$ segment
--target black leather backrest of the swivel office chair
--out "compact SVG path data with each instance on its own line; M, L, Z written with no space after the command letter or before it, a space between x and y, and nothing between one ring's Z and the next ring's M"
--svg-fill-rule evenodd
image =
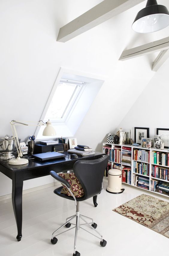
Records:
M79 160L73 165L73 171L85 191L84 200L99 194L108 159L106 155L96 160Z

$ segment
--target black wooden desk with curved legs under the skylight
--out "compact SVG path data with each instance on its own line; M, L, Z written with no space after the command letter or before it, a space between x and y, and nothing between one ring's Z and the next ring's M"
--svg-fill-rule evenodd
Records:
M50 171L57 173L73 169L73 164L80 159L97 159L104 155L103 153L96 152L94 155L78 156L76 159L71 159L70 154L64 152L65 158L40 162L36 160L29 160L25 165L9 165L7 161L0 162L0 171L12 180L12 204L13 211L16 219L18 241L22 238L22 188L23 181L30 180L38 177L49 175ZM93 197L95 207L97 196Z

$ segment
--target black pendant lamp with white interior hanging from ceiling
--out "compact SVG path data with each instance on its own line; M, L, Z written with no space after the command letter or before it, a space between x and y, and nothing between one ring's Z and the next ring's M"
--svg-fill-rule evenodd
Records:
M169 25L169 12L156 0L148 0L146 7L137 13L132 29L138 33L151 33Z

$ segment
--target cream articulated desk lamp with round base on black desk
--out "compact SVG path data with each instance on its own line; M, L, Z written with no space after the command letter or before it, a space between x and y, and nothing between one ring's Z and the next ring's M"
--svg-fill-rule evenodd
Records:
M27 126L42 126L42 125L45 125L46 127L43 130L43 134L42 134L43 136L54 136L54 135L56 135L56 131L55 131L54 127L52 127L50 121L47 121L46 124L43 123L43 121L41 121L41 120L38 121L38 124L24 124L20 121L12 120L10 122L10 126L11 126L13 137L14 137L14 140L15 140L15 143L16 143L16 149L17 149L18 156L17 156L16 159L9 160L10 165L25 165L29 162L28 159L21 158L23 156L23 154L22 154L22 150L20 148L19 139L18 139L18 135L17 135L17 132L16 132L16 127L15 127L16 125L27 125Z

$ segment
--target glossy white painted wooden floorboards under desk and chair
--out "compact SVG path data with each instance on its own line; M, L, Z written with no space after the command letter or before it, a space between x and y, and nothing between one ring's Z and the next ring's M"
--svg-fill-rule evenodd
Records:
M120 204L146 191L123 185L125 191L114 195L105 191L98 196L98 206L92 198L80 203L80 213L94 219L97 230L107 241L106 247L100 240L80 230L76 250L81 256L150 256L169 255L169 239L138 223L112 211ZM72 256L75 229L58 236L58 243L50 243L52 232L75 213L71 200L62 199L53 193L55 187L23 195L22 240L16 241L16 223L11 199L0 202L0 255L1 256ZM149 192L149 195L162 198ZM63 231L66 228L63 228Z

